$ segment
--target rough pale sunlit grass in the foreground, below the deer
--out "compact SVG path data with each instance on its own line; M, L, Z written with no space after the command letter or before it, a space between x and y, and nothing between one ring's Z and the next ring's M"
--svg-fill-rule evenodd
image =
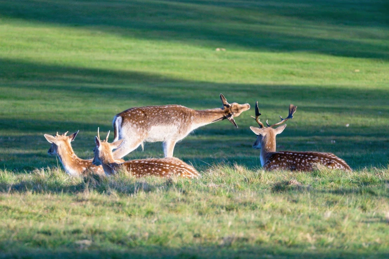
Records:
M388 174L238 165L211 167L199 180L3 171L0 249L35 258L97 257L96 249L104 257L386 258Z

